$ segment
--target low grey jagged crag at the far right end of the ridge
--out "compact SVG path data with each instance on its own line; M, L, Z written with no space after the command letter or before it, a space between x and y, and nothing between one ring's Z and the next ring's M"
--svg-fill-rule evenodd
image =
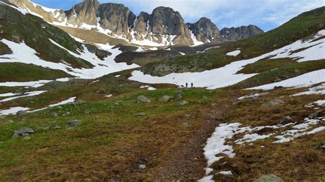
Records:
M255 25L232 27L221 29L220 34L224 40L241 40L254 36L257 34L262 34L264 31Z

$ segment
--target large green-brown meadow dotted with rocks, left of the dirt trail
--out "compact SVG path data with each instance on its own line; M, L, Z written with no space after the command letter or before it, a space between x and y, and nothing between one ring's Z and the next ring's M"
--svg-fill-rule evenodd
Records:
M196 113L196 109L203 109L202 106L211 103L211 99L203 99L202 103L198 103L202 96L216 97L220 100L226 98L222 91L187 90L184 91L182 100L190 103L184 109L180 109L178 103L182 100L173 100L170 103L158 102L160 96L164 94L175 95L175 89L147 92L145 89L139 89L140 83L135 83L136 88L130 90L128 86L124 94L119 96L113 93L113 90L104 91L108 90L106 86L123 86L121 79L116 79L118 83L112 83L111 80L112 78L106 80L110 83L106 81L93 83L94 85L90 87L94 89L93 92L85 89L91 82L88 81L79 88L67 86L50 94L36 96L33 99L34 103L28 103L29 99L19 99L6 105L5 107L13 104L43 107L44 101L53 103L73 95L87 101L77 106L65 105L28 116L18 118L11 116L1 120L0 179L107 180L114 179L117 174L122 179L128 177L143 179L145 176L141 171L132 170L137 168L142 157L152 156L154 153L164 156L166 155L164 153L179 142L186 141L189 134L197 130L200 120L189 120L184 115ZM95 88L101 92L96 94ZM80 92L77 93L74 89ZM115 95L112 99L104 97L111 93ZM152 103L149 105L136 103L136 97L140 94L152 99ZM66 98L62 98L63 96ZM58 118L51 118L51 112L57 112ZM65 112L71 114L62 116ZM147 116L137 116L139 112L145 112ZM19 122L23 118L28 122ZM14 125L8 125L6 120L10 119L14 120ZM65 122L72 119L80 119L84 124L67 129ZM56 125L62 129L38 129L29 142L23 142L22 138L11 139L12 131L20 127L37 129ZM23 176L22 170L25 171Z

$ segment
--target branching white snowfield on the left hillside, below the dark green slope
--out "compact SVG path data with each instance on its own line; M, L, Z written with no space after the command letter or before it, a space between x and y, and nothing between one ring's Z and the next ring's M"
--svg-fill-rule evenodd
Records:
M70 75L73 75L82 79L95 79L97 77L101 77L103 75L107 75L108 73L117 72L120 70L136 68L138 67L136 64L127 65L125 63L116 63L114 61L115 57L121 53L118 49L112 49L112 46L99 44L98 46L101 49L105 49L110 51L112 55L105 58L105 60L99 60L97 55L88 51L88 49L84 46L84 52L80 51L80 55L65 49L57 42L50 40L53 44L64 49L74 57L79 57L83 60L86 60L94 65L93 68L73 68L64 60L60 63L55 62L47 62L45 60L41 60L36 54L37 52L28 47L24 42L16 43L10 40L0 40L4 44L8 45L8 47L12 50L12 54L9 55L0 55L0 63L1 62L21 62L25 64L34 64L36 66L43 66L45 68L51 68L55 70L63 70Z

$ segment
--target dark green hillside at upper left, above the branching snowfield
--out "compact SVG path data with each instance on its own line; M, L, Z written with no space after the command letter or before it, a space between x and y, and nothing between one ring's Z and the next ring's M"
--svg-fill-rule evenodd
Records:
M24 41L25 44L39 53L38 56L40 58L50 62L64 60L75 68L90 68L92 66L91 63L73 57L67 51L60 49L50 42L49 38L75 53L77 53L77 49L82 49L80 43L76 42L61 29L49 25L42 18L31 14L23 15L21 12L2 3L0 4L0 11L0 30L3 31L3 34L0 34L0 40L5 38L14 42ZM0 44L0 49L4 48Z

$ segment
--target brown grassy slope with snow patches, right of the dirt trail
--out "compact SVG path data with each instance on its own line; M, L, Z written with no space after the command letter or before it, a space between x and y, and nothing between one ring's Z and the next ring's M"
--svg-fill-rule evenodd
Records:
M269 94L260 97L258 101L244 99L232 105L227 112L228 122L240 122L243 126L278 125L285 116L291 116L292 122L302 122L309 114L315 112L313 108L307 109L304 105L324 99L323 95L290 96L300 90L279 89L272 90ZM281 96L281 98L279 98ZM282 105L262 107L263 103L271 99L281 99ZM324 107L322 107L324 109ZM322 109L320 109L322 111ZM324 110L323 110L324 111ZM324 116L324 112L320 112ZM325 126L324 122L316 127ZM263 129L259 135L267 135L276 131ZM236 135L232 141L242 138ZM273 144L273 138L257 140L254 145L235 145L236 156L232 159L225 158L213 165L217 171L231 170L234 177L216 174L215 179L226 181L251 181L263 174L275 174L284 181L324 181L324 150L317 146L324 140L325 131L315 135L297 138L292 142ZM262 148L261 146L265 146ZM224 162L227 161L227 164Z

